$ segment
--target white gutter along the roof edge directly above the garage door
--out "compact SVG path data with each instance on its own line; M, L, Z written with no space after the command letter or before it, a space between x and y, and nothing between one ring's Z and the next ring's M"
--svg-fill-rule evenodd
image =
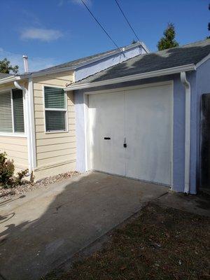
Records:
M80 85L70 85L69 87L64 88L65 91L68 90L81 90L83 88L89 88L89 87L99 87L102 85L111 85L115 83L123 83L128 82L131 80L141 80L144 78L153 78L158 76L166 76L166 75L172 75L175 73L180 73L181 71L193 71L196 70L195 64L187 64L183 66L176 66L168 69L162 69L158 71L151 71L147 73L139 73L135 75L130 76L124 76L120 78L113 78L111 80L102 80L99 82L93 82L93 83L83 83Z

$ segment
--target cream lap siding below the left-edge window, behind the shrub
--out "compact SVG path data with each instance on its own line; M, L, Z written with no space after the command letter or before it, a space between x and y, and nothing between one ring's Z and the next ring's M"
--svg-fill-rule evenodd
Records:
M18 169L28 168L27 138L0 136L0 151L6 152Z

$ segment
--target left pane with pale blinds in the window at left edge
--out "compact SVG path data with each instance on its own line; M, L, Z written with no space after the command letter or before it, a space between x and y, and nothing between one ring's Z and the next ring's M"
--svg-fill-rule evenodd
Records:
M10 92L0 92L0 132L13 132Z

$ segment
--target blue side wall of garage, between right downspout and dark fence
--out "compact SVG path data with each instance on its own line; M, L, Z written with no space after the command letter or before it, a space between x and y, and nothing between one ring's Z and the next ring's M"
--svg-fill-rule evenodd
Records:
M200 185L200 106L201 106L201 97L204 93L210 93L210 82L209 82L209 73L210 73L210 59L204 62L202 65L197 67L196 75L196 90L197 90L197 100L196 100L196 139L197 139L197 165L196 165L196 174L197 174L197 186Z

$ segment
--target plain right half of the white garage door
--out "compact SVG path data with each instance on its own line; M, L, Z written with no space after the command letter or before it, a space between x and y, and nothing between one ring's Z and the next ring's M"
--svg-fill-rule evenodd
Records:
M171 183L170 85L130 90L125 94L127 176Z

